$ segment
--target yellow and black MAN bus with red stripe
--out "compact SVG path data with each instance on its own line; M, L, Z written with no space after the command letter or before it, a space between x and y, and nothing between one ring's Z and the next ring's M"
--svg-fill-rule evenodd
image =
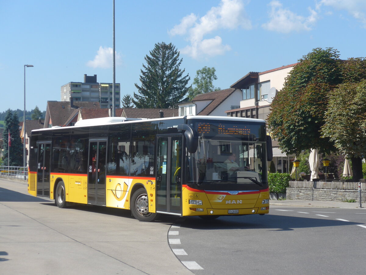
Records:
M81 120L33 130L28 192L68 202L214 219L269 213L264 120L185 116Z

